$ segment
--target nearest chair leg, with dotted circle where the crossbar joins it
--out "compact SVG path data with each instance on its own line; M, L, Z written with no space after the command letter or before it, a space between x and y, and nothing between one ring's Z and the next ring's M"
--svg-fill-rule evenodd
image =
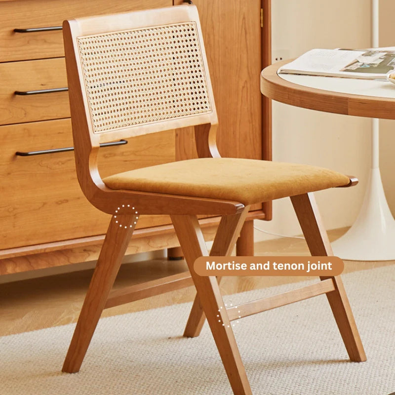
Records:
M237 348L228 313L224 307L217 279L215 276L197 276L194 271L195 260L200 256L208 255L197 217L172 215L171 220L233 392L237 395L250 395L252 394L251 388ZM229 230L229 235L232 233L234 233L234 230ZM225 239L232 240L233 237L229 237L229 235L223 234Z

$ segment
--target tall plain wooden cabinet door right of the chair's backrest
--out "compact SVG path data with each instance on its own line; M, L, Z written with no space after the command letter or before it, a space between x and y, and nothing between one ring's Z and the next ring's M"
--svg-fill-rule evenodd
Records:
M174 0L174 4L181 3L183 0ZM270 103L260 92L260 73L266 66L263 63L270 59L270 0L193 0L193 3L199 11L213 84L220 154L270 160ZM191 138L192 132L187 135ZM180 134L176 138L184 155L192 150L190 142L183 141L187 137ZM261 207L254 205L252 209ZM265 205L264 210L268 214L270 205Z

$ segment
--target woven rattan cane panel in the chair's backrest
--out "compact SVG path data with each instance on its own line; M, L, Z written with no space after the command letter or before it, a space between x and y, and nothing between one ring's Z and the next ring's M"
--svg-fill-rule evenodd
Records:
M211 112L194 22L78 43L95 133Z

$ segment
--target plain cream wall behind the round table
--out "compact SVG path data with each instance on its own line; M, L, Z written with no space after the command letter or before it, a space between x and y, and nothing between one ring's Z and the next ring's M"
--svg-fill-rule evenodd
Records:
M381 17L381 30L392 31L395 45L395 1L381 0L381 9L391 5L392 18ZM392 21L391 21L392 20ZM387 35L388 38L388 35ZM311 48L364 48L371 40L371 0L275 0L272 1L272 47L274 54L297 57ZM382 122L383 123L383 122ZM395 125L385 121L381 135L381 165L384 187L395 212ZM389 128L392 128L392 134ZM370 164L370 119L305 110L273 102L273 159L329 167L355 175L353 188L316 193L327 229L350 226L362 203ZM301 233L289 199L274 202L273 221L256 226L275 233ZM260 232L255 240L269 238Z

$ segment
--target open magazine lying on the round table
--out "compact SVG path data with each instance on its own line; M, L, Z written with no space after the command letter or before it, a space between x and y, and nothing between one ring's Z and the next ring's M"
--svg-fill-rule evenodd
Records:
M395 72L395 47L391 50L312 49L282 66L278 73L386 79L391 71Z

